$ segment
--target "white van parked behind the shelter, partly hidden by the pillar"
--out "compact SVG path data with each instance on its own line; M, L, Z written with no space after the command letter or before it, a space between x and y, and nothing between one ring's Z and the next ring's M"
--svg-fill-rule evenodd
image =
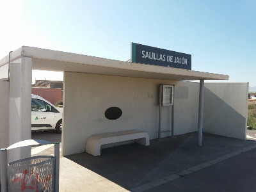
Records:
M62 108L57 108L51 102L38 95L31 95L31 129L55 129L62 132Z

